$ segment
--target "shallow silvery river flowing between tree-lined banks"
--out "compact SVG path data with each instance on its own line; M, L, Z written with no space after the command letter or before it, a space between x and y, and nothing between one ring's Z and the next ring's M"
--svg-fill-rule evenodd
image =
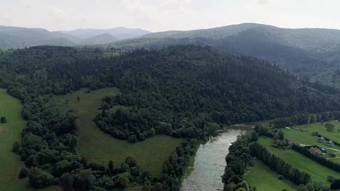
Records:
M195 155L194 171L184 178L180 191L222 191L225 158L229 146L241 132L240 129L228 129L201 144Z

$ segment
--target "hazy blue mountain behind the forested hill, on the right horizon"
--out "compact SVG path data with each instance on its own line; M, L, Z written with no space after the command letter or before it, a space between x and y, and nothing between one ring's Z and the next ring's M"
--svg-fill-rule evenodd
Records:
M211 29L151 33L112 46L162 47L174 44L214 46L229 53L270 60L313 80L323 76L327 78L323 79L327 84L340 82L334 72L340 66L340 30L335 29L287 29L243 23Z

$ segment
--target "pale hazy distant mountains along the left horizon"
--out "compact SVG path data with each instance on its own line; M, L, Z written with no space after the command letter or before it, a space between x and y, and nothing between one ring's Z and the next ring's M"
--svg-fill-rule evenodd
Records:
M116 42L150 33L142 29L77 29L48 31L41 28L0 26L0 49L24 48L38 45L76 46Z

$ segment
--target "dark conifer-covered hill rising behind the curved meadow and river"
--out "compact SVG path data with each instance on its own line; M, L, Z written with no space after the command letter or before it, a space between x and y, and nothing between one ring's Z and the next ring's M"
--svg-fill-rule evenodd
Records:
M126 93L121 99L129 99L122 103L157 109L159 121L204 116L225 124L340 108L339 96L327 93L338 93L336 89L307 84L268 62L224 56L210 47L141 49L112 58L101 55L98 49L33 47L9 53L7 62L22 74L38 68L46 71L47 79L53 80L52 89L42 89L46 93L117 86Z

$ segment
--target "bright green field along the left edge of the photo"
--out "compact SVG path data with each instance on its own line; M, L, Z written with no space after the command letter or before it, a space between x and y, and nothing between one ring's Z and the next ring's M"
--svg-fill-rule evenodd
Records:
M21 119L20 101L11 97L4 89L0 89L0 117L8 122L0 124L0 191L36 191L28 186L27 179L18 179L23 167L18 156L11 152L15 140L20 140L22 129L26 123ZM59 187L49 187L39 191L60 191Z

